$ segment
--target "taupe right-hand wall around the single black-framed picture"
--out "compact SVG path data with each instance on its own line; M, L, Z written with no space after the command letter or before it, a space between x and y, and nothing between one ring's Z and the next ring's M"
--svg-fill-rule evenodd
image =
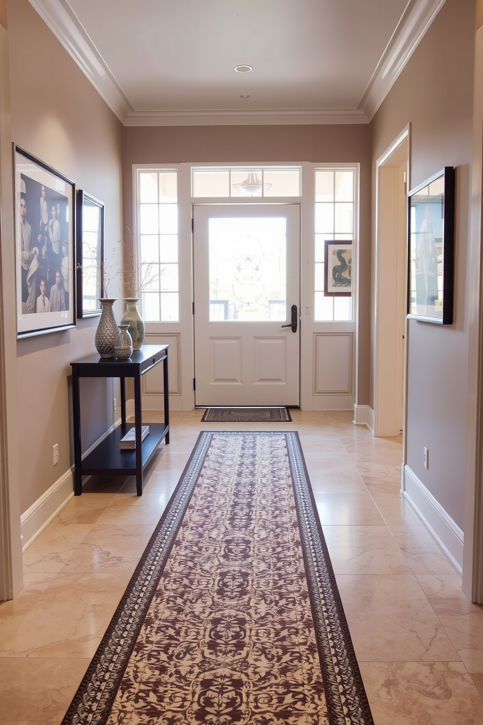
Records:
M461 529L474 25L474 0L447 0L371 122L373 193L377 158L408 123L410 187L444 166L456 168L454 324L409 321L407 463ZM429 449L428 471L424 446Z

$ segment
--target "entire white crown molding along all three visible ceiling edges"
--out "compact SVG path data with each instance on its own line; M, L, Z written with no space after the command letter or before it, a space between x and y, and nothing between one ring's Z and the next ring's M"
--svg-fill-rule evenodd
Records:
M356 109L135 111L68 0L29 0L125 126L327 125L369 123L445 0L409 0Z

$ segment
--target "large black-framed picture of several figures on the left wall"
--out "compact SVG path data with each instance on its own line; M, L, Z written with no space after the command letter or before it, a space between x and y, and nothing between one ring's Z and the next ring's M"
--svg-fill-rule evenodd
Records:
M75 327L74 183L14 146L17 337Z

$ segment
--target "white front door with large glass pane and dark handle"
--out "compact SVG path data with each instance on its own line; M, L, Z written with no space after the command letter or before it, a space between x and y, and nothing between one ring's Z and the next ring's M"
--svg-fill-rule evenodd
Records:
M196 405L300 405L300 218L193 207Z

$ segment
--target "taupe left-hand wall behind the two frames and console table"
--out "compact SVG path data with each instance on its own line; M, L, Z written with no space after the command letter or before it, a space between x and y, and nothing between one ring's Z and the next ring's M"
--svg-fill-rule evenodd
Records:
M122 238L122 124L28 3L7 0L12 141L105 204L106 248ZM14 274L14 270L12 270ZM122 297L119 289L109 295ZM118 302L117 317L122 315ZM20 505L25 512L70 468L70 362L95 352L98 318L17 341ZM112 425L113 384L83 386L85 447ZM52 447L59 444L54 467Z

